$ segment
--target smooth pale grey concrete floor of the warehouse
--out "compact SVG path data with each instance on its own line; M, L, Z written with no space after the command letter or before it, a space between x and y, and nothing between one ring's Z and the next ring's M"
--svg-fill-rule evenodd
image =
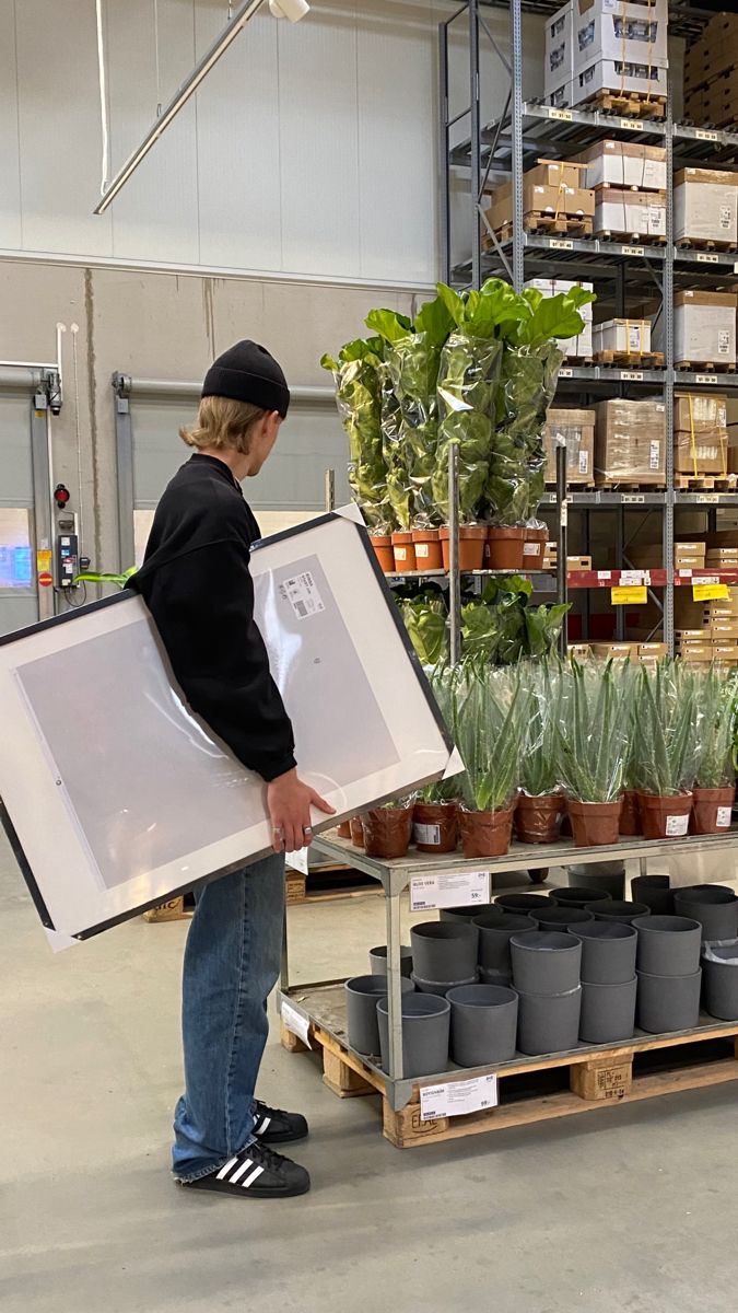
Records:
M313 1192L188 1196L168 1175L186 926L54 957L0 840L4 1313L709 1313L735 1309L735 1087L399 1152L377 1100L267 1050ZM294 979L364 968L382 901L290 913ZM297 1152L299 1150L299 1153Z

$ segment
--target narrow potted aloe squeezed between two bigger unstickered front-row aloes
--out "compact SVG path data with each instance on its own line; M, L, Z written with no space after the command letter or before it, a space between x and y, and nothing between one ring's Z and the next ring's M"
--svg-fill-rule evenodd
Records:
M563 811L557 759L561 670L541 662L528 670L525 725L520 760L520 793L515 831L523 843L553 843Z

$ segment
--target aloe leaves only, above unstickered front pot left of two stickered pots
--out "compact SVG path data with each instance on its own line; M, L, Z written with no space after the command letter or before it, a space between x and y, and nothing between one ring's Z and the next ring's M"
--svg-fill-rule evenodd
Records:
M609 662L573 660L561 679L558 772L579 802L617 802L626 748L624 688Z

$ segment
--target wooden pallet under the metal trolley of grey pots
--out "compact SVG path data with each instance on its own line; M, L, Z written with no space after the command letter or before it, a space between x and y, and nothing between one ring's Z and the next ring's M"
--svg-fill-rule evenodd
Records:
M709 1029L688 1036L638 1036L596 1052L580 1049L533 1061L521 1058L498 1073L498 1107L432 1121L422 1120L418 1086L406 1107L395 1112L380 1073L319 1025L310 1025L310 1041L322 1050L323 1082L328 1088L340 1099L381 1095L385 1137L398 1149L412 1149L738 1081L738 1023L705 1020L712 1023ZM284 1024L281 1040L289 1052L305 1052L302 1041ZM460 1069L458 1079L465 1075Z

